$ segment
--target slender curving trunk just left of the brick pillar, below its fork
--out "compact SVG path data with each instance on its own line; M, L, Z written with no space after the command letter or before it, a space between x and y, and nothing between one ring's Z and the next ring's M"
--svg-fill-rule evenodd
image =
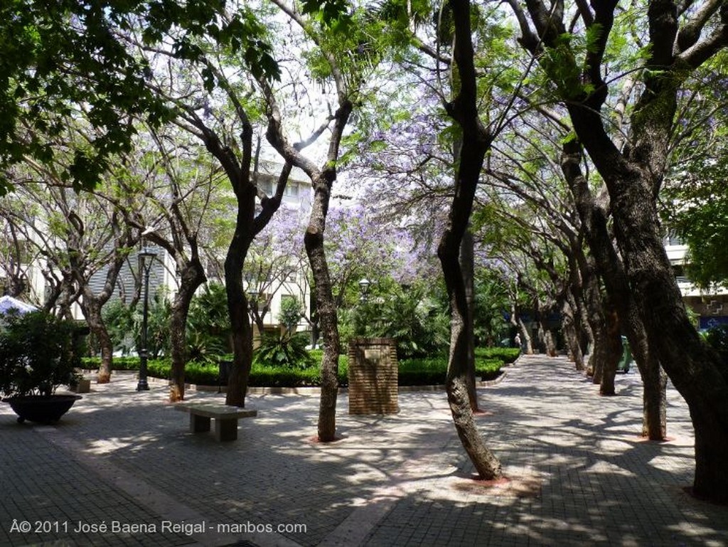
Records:
M330 175L331 173L323 172L312 181L314 202L304 235L306 255L309 257L314 281L313 290L316 296L320 334L323 337L318 418L318 440L321 442L336 441L336 398L339 394L339 325L324 252L326 214L333 184Z

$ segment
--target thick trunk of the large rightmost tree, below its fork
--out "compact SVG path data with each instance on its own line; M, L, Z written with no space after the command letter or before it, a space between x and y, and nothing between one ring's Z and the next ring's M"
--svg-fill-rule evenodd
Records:
M620 247L650 353L656 353L690 409L695 428L695 494L728 502L728 384L720 371L723 364L689 321L657 232L657 211L638 197L631 201L632 206L614 213L619 219Z

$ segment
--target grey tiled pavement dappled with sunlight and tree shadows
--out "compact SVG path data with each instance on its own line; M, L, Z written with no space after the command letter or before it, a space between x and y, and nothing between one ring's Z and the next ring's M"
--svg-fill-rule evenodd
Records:
M604 398L531 356L481 389L497 487L470 481L443 393L400 393L388 417L350 417L342 395L331 445L311 441L317 397L250 396L258 417L219 444L135 385L93 385L54 426L0 406L0 546L728 546L728 508L683 490L684 402L669 391L672 441L641 441L634 373Z

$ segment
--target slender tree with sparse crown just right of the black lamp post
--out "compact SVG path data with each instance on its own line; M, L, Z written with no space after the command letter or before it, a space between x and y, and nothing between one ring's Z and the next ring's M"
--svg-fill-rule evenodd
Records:
M126 176L116 178L119 197L109 200L140 237L159 245L174 262L178 286L170 306L169 334L170 402L176 402L184 398L190 303L207 280L200 232L210 220L210 203L220 194L222 177L205 162L197 143L186 142L186 133L173 126L147 129L136 142L135 161L125 162Z

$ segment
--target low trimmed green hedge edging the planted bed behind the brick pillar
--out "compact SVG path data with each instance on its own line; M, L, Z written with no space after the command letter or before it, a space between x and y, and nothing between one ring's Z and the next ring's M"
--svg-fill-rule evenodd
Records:
M475 375L483 380L490 380L498 377L505 358L515 360L518 357L518 349L510 348L488 348L499 350L498 357L486 357L485 353L478 348L475 358ZM515 351L515 357L513 352ZM504 353L507 352L507 353ZM249 385L251 387L301 387L321 385L320 362L323 352L312 351L315 366L307 369L290 369L282 366L265 366L254 364L250 370ZM509 361L511 362L511 361ZM87 368L98 368L99 358L84 359L84 366ZM400 385L442 385L445 383L448 360L446 355L432 358L411 358L400 361L399 384ZM124 357L114 358L114 369L116 370L138 370L139 358ZM149 376L157 378L170 377L171 363L169 359L150 359L147 362ZM339 355L339 385L349 385L348 379L349 360L347 355ZM187 363L185 366L185 381L190 384L218 385L218 366L203 363Z

